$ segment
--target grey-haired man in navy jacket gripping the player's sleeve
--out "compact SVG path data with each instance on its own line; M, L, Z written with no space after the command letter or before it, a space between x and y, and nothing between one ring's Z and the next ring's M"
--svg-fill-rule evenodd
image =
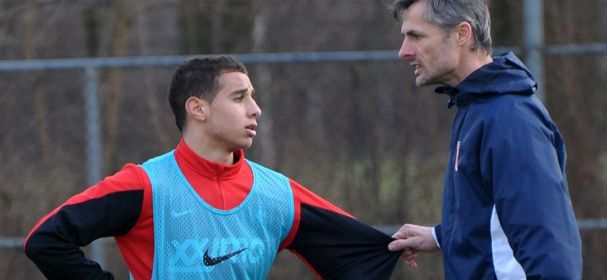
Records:
M442 85L458 111L438 226L404 225L390 250L441 250L446 279L579 279L581 240L563 140L523 63L491 57L483 0L397 0L418 86Z

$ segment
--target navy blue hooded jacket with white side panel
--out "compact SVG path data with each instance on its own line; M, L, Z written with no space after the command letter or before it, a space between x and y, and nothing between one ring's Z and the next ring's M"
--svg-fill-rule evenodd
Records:
M441 224L446 279L580 279L582 250L565 146L512 53L456 88Z

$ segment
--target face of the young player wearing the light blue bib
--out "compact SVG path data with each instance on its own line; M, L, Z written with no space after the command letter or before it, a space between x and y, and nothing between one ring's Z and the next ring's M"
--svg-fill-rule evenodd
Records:
M257 134L257 118L261 115L253 99L253 85L240 72L222 74L218 83L217 95L208 106L206 137L226 151L248 148Z

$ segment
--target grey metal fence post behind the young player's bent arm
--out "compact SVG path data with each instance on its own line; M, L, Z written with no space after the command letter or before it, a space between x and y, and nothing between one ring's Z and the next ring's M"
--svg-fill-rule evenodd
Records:
M101 180L102 174L102 145L101 118L99 116L99 73L92 66L85 68L84 100L86 114L86 159L87 184L92 186ZM91 259L104 267L103 242L95 240L91 244Z

